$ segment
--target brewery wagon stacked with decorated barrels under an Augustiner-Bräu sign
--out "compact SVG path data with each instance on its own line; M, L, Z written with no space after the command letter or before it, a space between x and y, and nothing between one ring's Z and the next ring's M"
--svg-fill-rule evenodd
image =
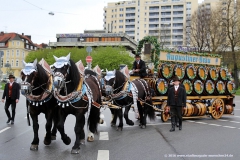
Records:
M150 76L144 79L154 93L153 106L158 108L162 121L170 117L166 102L173 76L178 76L187 92L183 118L219 119L223 114L234 114L235 84L228 69L220 65L219 55L161 52L157 74L154 76L153 70L149 70Z

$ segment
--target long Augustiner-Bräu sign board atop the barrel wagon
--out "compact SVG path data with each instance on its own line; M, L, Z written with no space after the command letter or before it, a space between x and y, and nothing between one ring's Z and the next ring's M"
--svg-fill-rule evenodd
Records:
M221 65L221 58L200 56L200 55L189 55L189 54L182 54L182 53L161 52L160 60L181 62L181 63L217 65L217 66Z

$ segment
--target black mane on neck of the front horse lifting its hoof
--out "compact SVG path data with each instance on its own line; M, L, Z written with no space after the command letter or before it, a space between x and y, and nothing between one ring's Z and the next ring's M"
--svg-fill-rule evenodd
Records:
M74 91L74 90L76 90L77 89L77 87L78 87L78 84L79 84L79 81L80 81L80 73L79 73L79 71L78 71L78 68L77 68L77 66L76 66L76 64L73 62L73 60L69 60L70 61L70 71L69 71L69 77L70 77L70 79L69 80L71 80L71 86L70 86L70 90L68 89L68 92L70 91L70 92L72 92L72 91Z

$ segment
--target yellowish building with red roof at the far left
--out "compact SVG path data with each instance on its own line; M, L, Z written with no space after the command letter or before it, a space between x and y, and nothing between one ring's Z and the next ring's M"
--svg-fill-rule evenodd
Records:
M22 60L30 51L37 50L38 47L31 41L31 36L17 33L0 33L0 51L2 74L12 72L15 77L20 76Z

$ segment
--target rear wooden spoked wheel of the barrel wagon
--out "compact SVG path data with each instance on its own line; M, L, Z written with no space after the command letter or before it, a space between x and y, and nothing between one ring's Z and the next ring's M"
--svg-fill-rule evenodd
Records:
M213 119L219 119L222 117L224 113L224 102L222 99L217 98L214 99L212 102L212 118Z

